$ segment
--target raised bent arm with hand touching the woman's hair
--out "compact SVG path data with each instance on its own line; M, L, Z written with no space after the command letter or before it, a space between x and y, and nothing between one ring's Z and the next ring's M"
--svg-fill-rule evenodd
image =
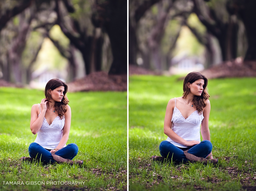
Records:
M47 110L47 99L42 99L40 105L41 105L41 113L38 116L38 104L34 104L31 108L31 118L30 118L30 130L31 132L36 135L38 131L41 129L43 121L44 121L44 116L45 112Z

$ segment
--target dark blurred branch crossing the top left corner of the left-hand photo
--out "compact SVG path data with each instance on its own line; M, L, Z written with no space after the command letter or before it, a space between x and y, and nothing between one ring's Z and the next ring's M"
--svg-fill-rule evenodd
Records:
M19 4L12 9L8 9L5 11L5 14L3 14L0 17L0 31L5 27L6 23L17 14L24 11L26 8L28 8L33 0L20 0Z

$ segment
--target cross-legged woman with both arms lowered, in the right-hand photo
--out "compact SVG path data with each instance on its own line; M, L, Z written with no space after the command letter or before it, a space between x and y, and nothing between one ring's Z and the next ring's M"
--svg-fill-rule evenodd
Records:
M168 102L164 118L164 134L168 138L159 146L161 156L152 156L154 161L172 159L176 162L218 163L218 159L212 157L207 83L204 75L191 72L184 79L183 96ZM203 137L201 142L200 125Z

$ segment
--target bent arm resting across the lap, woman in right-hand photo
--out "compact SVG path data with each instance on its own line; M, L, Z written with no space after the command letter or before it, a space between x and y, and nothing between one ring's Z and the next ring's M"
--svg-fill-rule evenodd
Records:
M185 139L179 137L173 130L172 130L172 115L173 115L173 109L175 106L175 100L174 98L170 99L170 101L167 104L165 117L164 117L164 134L170 137L173 141L183 144L185 146L193 146L195 144L199 144L199 141L192 140L192 141L186 141Z

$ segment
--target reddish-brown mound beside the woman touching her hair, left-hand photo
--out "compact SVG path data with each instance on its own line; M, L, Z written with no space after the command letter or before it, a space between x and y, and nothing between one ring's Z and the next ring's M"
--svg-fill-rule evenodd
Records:
M127 91L127 75L108 75L107 72L94 72L67 85L69 92Z

